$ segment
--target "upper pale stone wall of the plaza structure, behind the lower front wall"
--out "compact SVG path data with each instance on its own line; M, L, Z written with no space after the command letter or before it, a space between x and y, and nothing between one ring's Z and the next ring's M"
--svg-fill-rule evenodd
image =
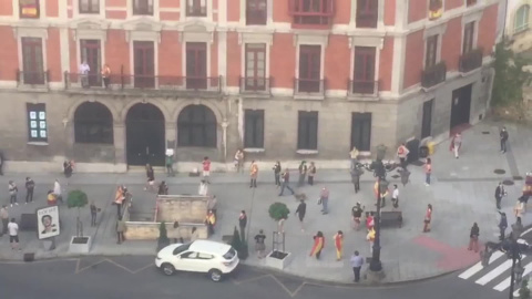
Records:
M206 196L166 195L157 196L157 221L203 223L207 215Z

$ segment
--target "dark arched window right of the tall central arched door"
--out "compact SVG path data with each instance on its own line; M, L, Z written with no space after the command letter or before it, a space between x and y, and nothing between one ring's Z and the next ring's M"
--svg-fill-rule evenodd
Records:
M188 105L177 117L177 145L216 147L216 116L205 105Z

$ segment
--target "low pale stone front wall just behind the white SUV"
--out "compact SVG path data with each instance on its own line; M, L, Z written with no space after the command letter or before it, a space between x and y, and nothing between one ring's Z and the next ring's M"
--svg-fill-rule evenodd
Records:
M206 239L208 237L207 226L203 223L180 223L180 227L174 228L173 223L165 223L167 236L171 239L178 239L180 237L188 240L192 235L192 228L196 227L198 238ZM125 239L127 240L156 240L158 238L158 228L161 223L125 223Z

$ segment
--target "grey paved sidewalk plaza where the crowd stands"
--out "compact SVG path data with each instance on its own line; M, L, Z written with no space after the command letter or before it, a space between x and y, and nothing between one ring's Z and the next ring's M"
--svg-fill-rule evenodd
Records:
M463 151L456 159L448 151L449 141L437 147L433 162L433 183L424 186L422 167L409 166L410 183L402 187L398 178L391 178L390 187L399 185L400 209L403 213L402 228L382 228L381 230L381 260L386 272L385 282L402 282L442 275L452 270L468 267L479 260L479 255L468 251L469 230L474 221L480 227L481 241L495 240L499 236L498 213L493 198L498 182L509 179L513 186L507 186L509 196L503 199L503 210L509 216L509 223L514 221L512 207L521 193L524 181L513 181L513 177L523 176L528 172L524 161L532 159L532 133L530 130L507 125L510 133L510 148L505 155L499 153L499 125L500 123L484 122L463 132ZM489 132L487 134L485 132ZM389 151L393 151L390 148ZM346 162L348 163L348 162ZM319 166L319 165L318 165ZM502 175L493 173L503 169ZM389 176L392 176L389 174ZM18 183L19 203L24 196L23 179L27 174L7 174L0 177L3 200L8 200L7 182L13 179ZM20 205L9 209L10 216L20 219L22 213L34 213L35 208L45 205L45 192L51 188L55 177L60 174L31 174L37 183L35 200L29 205ZM171 194L194 194L197 192L197 177L177 176L166 178L156 174L156 181L165 179L170 185ZM60 178L61 182L64 178ZM293 181L296 177L293 176ZM259 229L264 229L267 239L267 250L272 249L272 233L276 223L269 218L267 209L272 203L284 202L291 213L297 207L293 196L278 197L278 190L273 184L273 174L269 168L259 173L258 188L248 188L247 174L214 174L209 192L218 197L218 225L216 234L212 237L221 240L222 235L231 235L241 209L248 214L248 239L250 257L245 261L254 266L264 266L264 260L256 258L253 252L253 237ZM96 227L90 227L89 208L83 210L85 235L92 236L93 247L91 255L154 255L156 241L126 241L116 245L114 225L116 220L115 208L111 206L115 186L125 184L133 193L134 202L154 199L153 194L145 193L145 177L143 173L129 174L74 174L69 181L66 189L80 188L88 193L90 200L102 208ZM285 269L286 272L304 276L310 279L332 280L338 282L352 281L352 271L349 268L349 257L354 250L359 250L364 257L369 257L369 245L366 241L366 231L355 231L350 227L350 208L356 202L361 202L367 210L374 209L375 196L372 194L374 178L365 174L361 178L361 193L355 195L350 176L346 169L330 171L318 169L315 186L305 186L307 215L306 229L301 233L297 217L290 215L285 224L286 250L294 254L294 260ZM63 184L64 185L64 184ZM295 186L295 184L291 184ZM320 207L316 205L321 186L330 190L328 215L321 215ZM389 209L391 203L387 200ZM432 204L432 231L422 234L423 215L427 204ZM151 210L142 210L150 215ZM58 249L44 251L35 238L34 233L21 231L23 252L35 252L35 257L64 257L68 256L68 244L75 234L75 210L61 207L62 234L58 237ZM149 218L150 216L146 216ZM523 224L532 224L532 216L525 215ZM308 257L313 246L313 236L321 230L326 237L321 260ZM337 230L345 234L345 258L336 261L332 236ZM0 238L0 259L21 260L22 255L9 249L8 238Z

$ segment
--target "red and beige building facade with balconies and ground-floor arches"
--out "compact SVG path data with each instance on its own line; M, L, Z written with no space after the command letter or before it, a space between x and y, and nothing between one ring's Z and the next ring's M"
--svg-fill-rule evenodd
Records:
M489 105L500 6L0 0L0 150L12 169L123 172L166 148L325 164L444 136Z

